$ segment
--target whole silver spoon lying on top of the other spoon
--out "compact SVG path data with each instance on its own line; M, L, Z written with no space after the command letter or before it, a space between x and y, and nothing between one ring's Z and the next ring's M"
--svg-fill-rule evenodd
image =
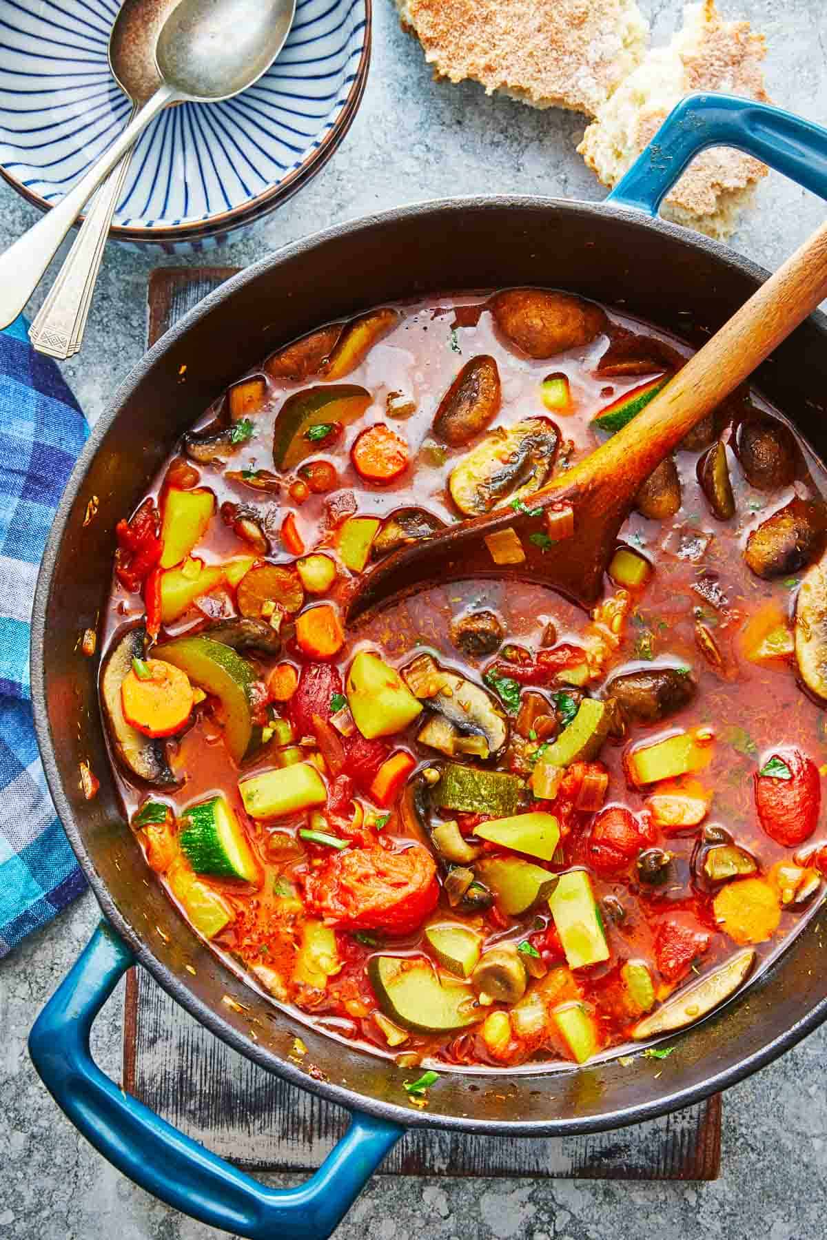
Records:
M161 86L98 162L0 257L0 327L26 305L83 205L146 125L170 103L218 103L245 91L288 37L295 0L181 0L155 58Z

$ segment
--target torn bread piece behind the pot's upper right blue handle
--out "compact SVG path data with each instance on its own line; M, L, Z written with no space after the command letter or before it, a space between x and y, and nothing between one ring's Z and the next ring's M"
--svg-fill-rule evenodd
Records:
M722 21L714 0L684 10L683 29L650 51L589 125L578 151L610 188L629 170L676 103L693 91L720 91L769 103L763 35L748 21ZM713 146L697 155L667 195L661 213L725 241L767 169L751 155Z

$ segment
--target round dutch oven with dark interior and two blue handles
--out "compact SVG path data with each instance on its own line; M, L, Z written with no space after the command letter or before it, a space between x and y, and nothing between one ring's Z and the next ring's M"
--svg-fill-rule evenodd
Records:
M440 291L536 284L616 304L683 336L717 330L766 278L715 242L656 218L707 146L736 146L827 198L827 133L775 108L696 95L666 120L605 203L469 198L404 207L298 242L221 286L146 355L100 419L55 521L35 601L32 691L48 784L105 920L31 1033L58 1106L124 1174L179 1210L241 1236L329 1236L407 1126L511 1137L590 1132L651 1118L734 1084L827 1016L820 934L807 930L755 985L679 1038L679 1053L631 1065L440 1075L427 1111L404 1105L405 1073L343 1047L244 987L185 924L144 862L109 775L93 661L114 527L179 435L237 374L320 321ZM758 384L827 459L827 320L813 315L761 367ZM186 372L182 367L186 366ZM186 373L187 382L180 381ZM95 520L84 512L98 497ZM87 802L78 763L100 791ZM263 1188L126 1096L94 1065L89 1028L130 965L262 1068L347 1107L352 1125L301 1188ZM186 966L195 965L195 973ZM222 998L237 996L238 1013ZM258 1040L250 1028L258 1030ZM303 1064L293 1039L307 1044ZM314 1064L310 1076L305 1065Z

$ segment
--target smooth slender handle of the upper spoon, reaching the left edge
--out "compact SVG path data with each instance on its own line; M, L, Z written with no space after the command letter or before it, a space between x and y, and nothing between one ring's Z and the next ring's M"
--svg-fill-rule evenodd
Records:
M134 146L162 108L179 98L171 86L161 86L112 146L42 219L0 255L0 329L21 312L37 288L58 246L107 172Z

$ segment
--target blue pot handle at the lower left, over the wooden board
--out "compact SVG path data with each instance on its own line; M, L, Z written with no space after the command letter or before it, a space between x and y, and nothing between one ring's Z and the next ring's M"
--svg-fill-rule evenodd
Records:
M404 1128L356 1112L305 1184L258 1184L124 1094L92 1059L92 1022L134 963L102 921L37 1017L29 1052L57 1105L109 1162L176 1210L252 1240L326 1240Z

